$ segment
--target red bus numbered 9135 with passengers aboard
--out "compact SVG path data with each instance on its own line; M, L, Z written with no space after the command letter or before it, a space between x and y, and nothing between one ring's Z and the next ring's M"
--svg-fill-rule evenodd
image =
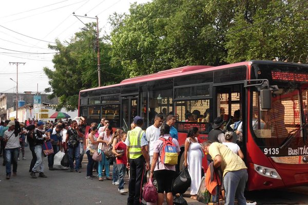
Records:
M188 129L198 127L202 142L210 122L220 115L232 121L237 110L242 120L240 147L248 167L247 189L307 185L308 65L252 60L217 67L185 66L79 94L79 116L89 123L105 117L125 131L136 115L144 117L145 130L157 113L174 114L180 167ZM188 113L194 120L187 121ZM206 157L203 167L207 167Z

